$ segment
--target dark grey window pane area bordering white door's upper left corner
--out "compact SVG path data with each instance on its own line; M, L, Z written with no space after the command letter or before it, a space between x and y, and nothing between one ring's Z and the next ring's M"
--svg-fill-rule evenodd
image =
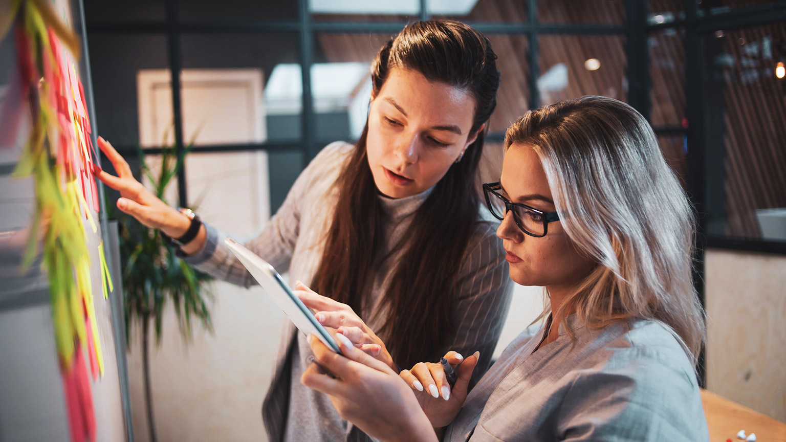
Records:
M167 69L164 35L89 33L97 127L119 149L139 144L137 72Z

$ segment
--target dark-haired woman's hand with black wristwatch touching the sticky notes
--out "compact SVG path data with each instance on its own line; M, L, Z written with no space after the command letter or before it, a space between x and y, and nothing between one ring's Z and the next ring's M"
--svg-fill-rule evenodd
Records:
M163 231L171 238L180 238L189 230L190 220L174 208L164 204L156 195L142 186L141 182L134 178L126 160L117 153L109 142L98 137L98 146L112 163L118 176L108 174L96 164L93 166L93 172L104 184L120 192L121 198L117 200L117 208L133 216L145 226ZM204 235L197 238L202 238L204 242Z

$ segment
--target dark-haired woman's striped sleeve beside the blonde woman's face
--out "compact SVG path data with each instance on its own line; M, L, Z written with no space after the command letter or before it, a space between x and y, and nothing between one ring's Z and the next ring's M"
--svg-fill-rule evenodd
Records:
M442 354L455 350L467 356L479 351L480 360L470 384L475 385L490 366L491 354L508 314L513 282L505 249L492 223L483 221L475 242L470 244L474 246L465 253L460 271L454 311L456 331L446 341Z

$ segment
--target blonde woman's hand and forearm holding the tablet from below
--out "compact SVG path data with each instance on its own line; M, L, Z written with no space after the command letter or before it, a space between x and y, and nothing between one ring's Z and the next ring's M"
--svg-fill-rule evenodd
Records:
M300 381L329 395L342 418L384 441L437 440L412 389L391 367L356 348L343 334L336 333L341 355L314 335L309 343L314 363Z

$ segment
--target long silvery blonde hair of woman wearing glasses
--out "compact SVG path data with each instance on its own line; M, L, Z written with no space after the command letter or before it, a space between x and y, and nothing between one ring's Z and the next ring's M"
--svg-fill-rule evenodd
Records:
M572 306L595 328L661 322L696 366L705 326L691 274L694 215L644 117L586 96L527 112L505 134L505 149L514 143L537 153L562 227L598 263L553 315Z

